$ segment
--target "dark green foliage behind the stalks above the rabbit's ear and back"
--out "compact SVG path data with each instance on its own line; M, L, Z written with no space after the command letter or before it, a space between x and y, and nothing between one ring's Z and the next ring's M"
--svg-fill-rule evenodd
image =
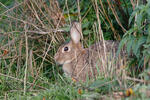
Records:
M60 5L62 7L66 4L66 0L58 0L58 1L60 1ZM93 37L94 34L96 34L96 32L94 31L98 31L95 2L97 2L99 6L99 17L101 21L101 27L104 32L104 38L106 40L118 40L118 38L115 38L114 32L116 32L116 34L120 36L122 36L124 32L123 30L120 29L120 26L118 25L118 22L114 17L115 15L112 13L111 9L109 8L109 4L108 4L109 2L105 0L102 0L104 10L101 7L100 2L97 0L80 1L80 14L82 18L81 20L82 20L82 30L83 30L84 38L90 35L91 36L90 41L94 41L95 38ZM120 3L117 4L117 2ZM120 16L120 21L126 29L128 29L128 19L129 19L128 16L132 12L129 11L131 10L132 6L128 2L129 2L128 0L127 1L116 0L114 2L113 1L111 2L111 6L114 6L114 8L116 8L115 10L117 11L118 16ZM77 2L75 0L68 1L66 6L70 8L64 10L64 16L66 21L69 22L70 20L71 21L80 20L78 16ZM118 10L117 8L122 10Z

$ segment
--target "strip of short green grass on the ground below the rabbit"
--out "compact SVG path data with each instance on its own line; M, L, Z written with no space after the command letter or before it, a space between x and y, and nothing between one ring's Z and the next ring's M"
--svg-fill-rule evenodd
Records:
M135 83L135 81L125 80L124 85L128 89L119 86L118 79L98 78L95 82L78 84L72 80L60 76L57 81L51 82L46 77L40 77L35 84L28 83L27 91L24 95L23 81L10 76L1 75L1 99L7 100L76 100L76 99L148 99L150 85ZM30 79L31 80L31 79ZM28 81L30 81L28 79ZM120 80L122 82L122 80ZM136 80L137 81L137 80ZM123 83L121 84L123 85ZM129 92L129 93L128 93ZM124 97L124 95L126 95ZM130 97L130 98L129 98Z

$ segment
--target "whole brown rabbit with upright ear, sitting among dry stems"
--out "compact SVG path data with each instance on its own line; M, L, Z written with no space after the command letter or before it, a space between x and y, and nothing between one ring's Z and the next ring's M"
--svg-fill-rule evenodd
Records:
M119 42L105 40L104 43L99 41L89 48L83 48L80 42L81 24L79 22L72 23L70 36L71 40L61 45L54 55L55 62L63 66L67 76L77 81L96 79L99 73L104 72L104 65L107 65L109 59L107 56L110 53L115 56Z

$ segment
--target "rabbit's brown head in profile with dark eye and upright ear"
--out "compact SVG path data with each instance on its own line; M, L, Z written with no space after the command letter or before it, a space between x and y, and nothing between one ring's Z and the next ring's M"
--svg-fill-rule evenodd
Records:
M73 22L70 28L71 40L61 45L54 56L58 64L67 64L73 61L84 49L80 43L81 25Z

